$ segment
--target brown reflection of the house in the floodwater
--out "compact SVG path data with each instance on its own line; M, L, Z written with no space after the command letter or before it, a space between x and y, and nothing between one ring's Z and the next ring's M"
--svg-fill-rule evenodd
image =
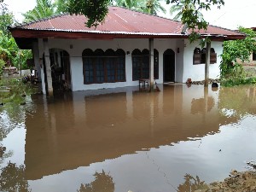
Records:
M160 92L74 92L26 117L26 179L218 132L218 91L165 85ZM43 102L44 101L44 102Z

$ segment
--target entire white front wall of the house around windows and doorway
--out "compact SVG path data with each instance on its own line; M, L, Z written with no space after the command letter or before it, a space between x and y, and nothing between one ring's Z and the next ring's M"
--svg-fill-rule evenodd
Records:
M71 46L72 45L72 46ZM212 42L212 48L217 55L222 53L222 43ZM154 39L154 49L159 51L159 79L157 84L163 83L163 53L166 49L175 52L176 59L176 82L185 83L188 78L192 80L204 79L205 65L193 65L193 51L198 44L189 44L183 39ZM81 39L49 39L49 49L65 49L70 55L72 90L97 90L124 86L137 86L137 81L132 81L131 52L134 49L149 49L148 38L141 39L109 39L109 40L81 40ZM123 49L130 54L125 55L126 81L104 84L84 84L82 53L84 49ZM179 53L177 53L179 48ZM218 63L210 65L210 78L217 78L220 58Z

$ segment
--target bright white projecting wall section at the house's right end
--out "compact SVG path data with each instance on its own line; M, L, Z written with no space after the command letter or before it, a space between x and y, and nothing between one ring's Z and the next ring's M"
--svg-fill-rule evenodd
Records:
M211 47L215 50L217 54L217 63L210 64L209 66L209 78L218 79L219 78L219 64L221 61L220 55L223 52L222 42L213 42ZM192 81L201 81L205 79L205 64L193 65L193 54L195 47L201 48L199 42L189 44L188 40L185 40L185 48L183 55L183 83L187 79L192 79Z

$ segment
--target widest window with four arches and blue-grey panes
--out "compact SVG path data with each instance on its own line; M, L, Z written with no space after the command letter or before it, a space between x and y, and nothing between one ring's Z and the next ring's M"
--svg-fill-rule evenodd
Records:
M125 81L125 51L122 49L91 49L83 51L84 84Z

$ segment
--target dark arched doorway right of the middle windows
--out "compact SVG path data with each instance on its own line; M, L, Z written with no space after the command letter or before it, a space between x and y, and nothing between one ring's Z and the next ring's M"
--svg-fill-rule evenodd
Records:
M172 49L164 52L164 82L175 82L175 52Z

